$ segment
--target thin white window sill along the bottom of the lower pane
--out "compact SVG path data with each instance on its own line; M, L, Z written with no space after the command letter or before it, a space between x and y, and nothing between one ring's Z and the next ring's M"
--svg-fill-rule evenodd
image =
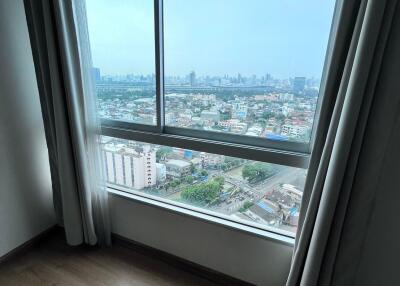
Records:
M123 188L121 188L123 189ZM161 208L163 210L172 212L174 214L182 215L189 217L191 219L197 219L201 220L206 223L210 224L215 224L219 225L221 227L239 231L239 232L244 232L246 234L254 235L257 237L261 237L266 240L274 241L280 244L288 245L288 246L294 246L295 239L293 237L293 234L285 231L281 231L278 229L274 230L265 230L253 226L248 226L239 222L223 219L214 215L209 214L206 210L191 210L188 208L180 207L175 204L171 204L169 202L165 202L161 198L155 198L151 195L147 194L142 194L142 193L131 193L123 190L118 190L112 187L107 187L107 191L109 194L124 198L127 200L133 200L135 202L139 202L142 204L149 205L151 207L156 207L156 208ZM210 212L211 213L211 212ZM277 233L277 232L282 232L282 233Z

